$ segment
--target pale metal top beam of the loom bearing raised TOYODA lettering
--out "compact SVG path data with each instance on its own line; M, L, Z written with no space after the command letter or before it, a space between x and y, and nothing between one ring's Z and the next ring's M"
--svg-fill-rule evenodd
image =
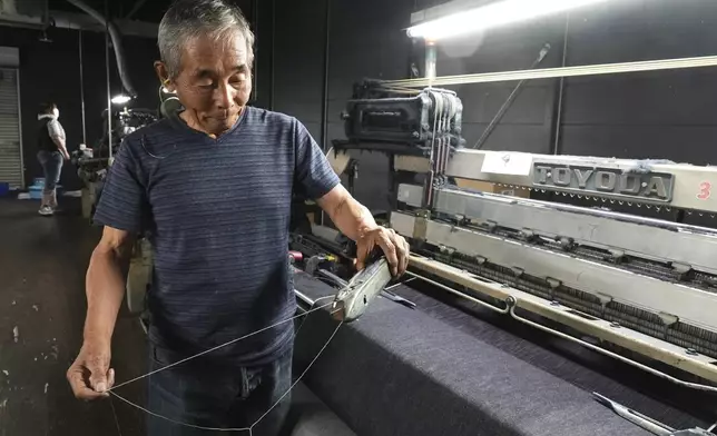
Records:
M429 158L396 156L394 169L421 171L429 165ZM717 167L665 160L532 155L463 148L455 151L444 175L524 189L563 192L607 204L717 212L717 196L714 195L714 189L717 188ZM636 187L636 180L641 186Z

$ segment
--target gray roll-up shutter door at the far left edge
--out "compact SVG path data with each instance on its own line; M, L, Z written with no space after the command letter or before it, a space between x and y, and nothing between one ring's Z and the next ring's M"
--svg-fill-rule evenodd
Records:
M23 188L18 70L0 68L0 182Z

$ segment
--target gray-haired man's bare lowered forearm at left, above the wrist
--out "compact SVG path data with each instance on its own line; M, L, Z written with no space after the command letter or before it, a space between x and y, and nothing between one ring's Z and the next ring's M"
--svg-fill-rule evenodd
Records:
M110 343L125 296L120 255L102 247L95 249L87 270L86 286L85 340Z

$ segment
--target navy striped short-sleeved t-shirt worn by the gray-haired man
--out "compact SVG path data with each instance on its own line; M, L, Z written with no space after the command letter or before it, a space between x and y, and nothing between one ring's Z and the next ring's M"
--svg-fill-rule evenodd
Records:
M150 340L191 355L293 316L292 195L317 199L338 184L295 118L246 107L218 139L170 118L124 140L95 220L149 235ZM286 323L213 356L268 361L292 331Z

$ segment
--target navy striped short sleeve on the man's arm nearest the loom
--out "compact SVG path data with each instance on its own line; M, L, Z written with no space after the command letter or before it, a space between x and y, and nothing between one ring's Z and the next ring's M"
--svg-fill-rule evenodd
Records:
M310 199L320 199L334 189L341 179L336 176L311 133L298 120L294 120L294 147L296 169L294 184Z

